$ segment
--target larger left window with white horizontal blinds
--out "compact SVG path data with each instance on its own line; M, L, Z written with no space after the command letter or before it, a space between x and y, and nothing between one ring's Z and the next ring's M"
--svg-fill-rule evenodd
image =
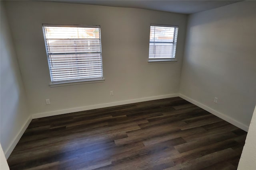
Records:
M100 26L43 24L52 84L103 80Z

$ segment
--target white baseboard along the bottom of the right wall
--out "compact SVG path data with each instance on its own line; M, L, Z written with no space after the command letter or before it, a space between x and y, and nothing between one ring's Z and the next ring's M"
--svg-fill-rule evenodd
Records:
M198 106L198 107L201 107L202 109L212 113L213 115L216 115L217 117L220 117L221 119L227 121L228 123L231 123L232 125L235 125L236 127L239 127L240 129L243 129L244 131L248 132L248 129L249 127L244 125L243 123L223 114L223 113L220 113L208 106L205 106L204 104L200 103L200 102L197 102L196 100L193 100L183 94L180 94L180 98L184 99L184 100L187 100L188 102Z

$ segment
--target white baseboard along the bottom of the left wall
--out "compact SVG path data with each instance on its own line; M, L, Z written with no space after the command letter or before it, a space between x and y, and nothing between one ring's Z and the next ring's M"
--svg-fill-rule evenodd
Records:
M32 117L29 116L24 125L20 128L19 133L15 136L15 138L11 141L10 145L8 148L5 150L4 155L6 159L9 158L10 154L12 153L12 150L16 147L18 141L20 141L20 138L22 137L23 133L26 131L29 123L32 121Z

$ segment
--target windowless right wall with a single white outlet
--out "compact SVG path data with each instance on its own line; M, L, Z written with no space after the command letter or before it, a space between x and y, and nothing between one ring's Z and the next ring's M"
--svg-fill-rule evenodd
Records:
M182 97L245 130L256 103L255 9L244 1L190 15L180 84Z

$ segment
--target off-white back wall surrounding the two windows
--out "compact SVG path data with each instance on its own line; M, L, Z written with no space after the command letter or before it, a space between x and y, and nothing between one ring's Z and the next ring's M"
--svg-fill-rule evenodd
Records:
M97 104L178 95L186 15L40 1L8 1L6 7L32 114L51 115ZM42 23L100 25L105 82L49 87ZM147 63L150 23L179 25L177 63ZM48 98L50 105L45 104Z

